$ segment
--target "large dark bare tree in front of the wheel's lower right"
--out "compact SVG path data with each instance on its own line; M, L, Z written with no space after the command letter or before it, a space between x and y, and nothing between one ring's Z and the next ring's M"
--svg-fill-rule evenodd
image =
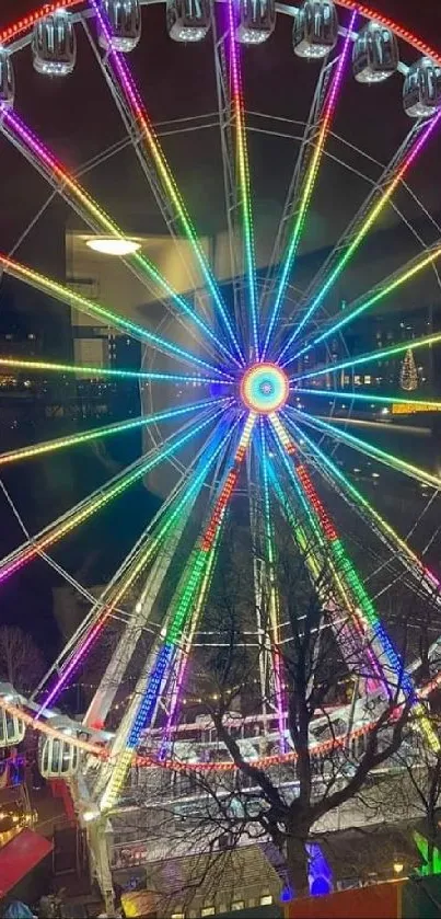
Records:
M249 646L252 611L246 613L249 585L241 566L241 536L230 535L227 543L229 559L219 565L208 611L210 628L219 629L223 641L199 654L198 685L201 677L206 682L195 710L206 712L214 726L219 749L212 755L219 759L223 751L232 767L200 769L196 777L193 769L192 782L211 841L212 834L232 848L244 839L271 841L299 896L309 891L309 847L326 832L334 812L346 808L348 827L358 819L381 820L385 785L380 767L394 762L411 744L422 713L415 709L404 669L387 664L386 655L380 660L375 630L360 633L353 604L349 608L336 590L345 576L344 562L338 570L314 533L306 540L303 533L295 555L292 528L277 528L281 627L272 652L268 585L275 573L268 576L267 571L264 578L263 634ZM262 657L268 653L274 667L277 658L283 679L289 755L282 757L274 680L264 689L259 678ZM192 699L192 686L187 696ZM241 739L231 719L239 707L243 717L259 713L265 724L253 743ZM375 778L380 771L382 778Z

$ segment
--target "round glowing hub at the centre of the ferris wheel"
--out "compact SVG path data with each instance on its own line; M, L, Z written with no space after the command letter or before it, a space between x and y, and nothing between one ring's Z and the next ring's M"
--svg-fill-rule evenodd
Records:
M252 412L263 415L277 412L285 405L288 395L288 377L277 364L253 364L242 377L241 399Z

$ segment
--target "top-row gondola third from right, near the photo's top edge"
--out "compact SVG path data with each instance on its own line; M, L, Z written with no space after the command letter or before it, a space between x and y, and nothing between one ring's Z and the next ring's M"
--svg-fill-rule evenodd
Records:
M299 57L326 57L337 44L338 18L332 0L304 0L295 14L292 44Z

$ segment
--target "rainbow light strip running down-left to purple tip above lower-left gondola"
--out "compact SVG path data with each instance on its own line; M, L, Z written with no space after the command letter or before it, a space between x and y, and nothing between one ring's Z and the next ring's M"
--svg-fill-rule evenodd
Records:
M219 412L217 414L219 415ZM103 607L100 610L97 621L91 625L86 634L82 637L80 647L72 655L68 665L59 675L55 686L53 687L48 696L45 698L45 701L38 711L37 717L39 717L43 714L43 712L46 711L46 709L48 709L49 705L51 705L55 699L58 698L62 688L66 686L66 681L72 675L73 670L78 668L79 664L84 658L84 656L89 654L92 645L95 643L96 639L101 634L102 629L108 621L109 617L113 614L115 608L127 594L127 590L129 590L129 588L135 583L137 577L140 575L142 570L151 561L153 555L159 551L161 543L163 543L164 539L167 537L170 531L179 520L186 505L189 504L195 498L197 493L200 491L210 467L213 464L214 460L230 439L233 429L234 425L227 432L227 434L223 433L222 428L220 429L220 432L217 433L217 435L213 438L213 443L211 444L212 451L209 452L208 460L197 472L194 481L185 491L181 499L175 504L174 507L172 506L172 508L167 512L167 514L165 515L165 520L159 528L158 532L148 535L147 545L144 544L141 548L141 551L138 553L138 560L136 561L136 564L130 567L127 576L123 578L121 584L114 593L109 602L106 602L105 607Z

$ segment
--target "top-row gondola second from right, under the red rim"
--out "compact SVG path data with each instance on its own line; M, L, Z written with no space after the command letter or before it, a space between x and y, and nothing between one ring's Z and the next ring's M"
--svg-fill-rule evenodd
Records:
M391 28L370 22L359 32L352 51L352 70L359 83L381 83L399 64L398 43Z

